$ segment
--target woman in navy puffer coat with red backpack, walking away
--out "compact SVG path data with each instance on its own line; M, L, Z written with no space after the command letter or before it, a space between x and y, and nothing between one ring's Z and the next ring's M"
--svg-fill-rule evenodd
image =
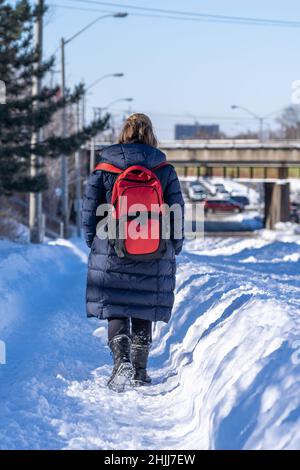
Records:
M108 386L118 392L127 385L151 382L147 361L152 322L167 323L174 303L184 202L176 171L157 145L150 119L144 114L130 116L118 144L101 151L83 200L83 229L91 248L87 315L108 320L114 360ZM108 217L97 211L105 203L112 208ZM163 207L174 204L180 214L171 212L170 236L164 237Z

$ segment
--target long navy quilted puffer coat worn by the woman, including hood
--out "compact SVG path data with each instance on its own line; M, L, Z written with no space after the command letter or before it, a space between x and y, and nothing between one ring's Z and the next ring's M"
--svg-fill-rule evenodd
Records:
M102 150L100 162L111 163L121 169L131 165L153 168L166 160L160 150L144 144L116 144ZM165 203L180 204L183 198L177 174L172 166L156 170L164 191ZM168 240L162 258L134 261L118 258L107 239L96 235L99 218L96 209L101 203L110 203L116 175L95 171L85 190L82 223L86 243L91 247L88 262L86 304L87 315L101 319L136 317L144 320L168 322L174 303L175 254L179 254L181 239Z

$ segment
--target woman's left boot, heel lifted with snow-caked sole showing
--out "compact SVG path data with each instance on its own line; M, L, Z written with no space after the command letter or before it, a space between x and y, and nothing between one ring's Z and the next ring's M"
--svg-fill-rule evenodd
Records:
M113 360L114 368L108 387L115 392L124 392L126 385L131 385L134 369L131 364L131 340L127 335L117 335L108 343Z

